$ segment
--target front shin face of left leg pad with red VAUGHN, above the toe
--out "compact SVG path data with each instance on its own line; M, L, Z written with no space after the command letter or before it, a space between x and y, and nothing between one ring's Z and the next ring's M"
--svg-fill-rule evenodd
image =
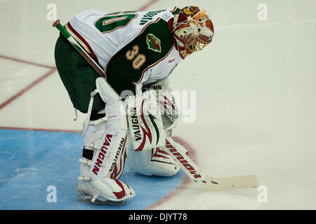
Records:
M102 141L96 146L98 151L94 155L89 176L93 180L104 177L119 179L128 153L126 146L130 144L124 102L104 78L97 78L96 86L100 97L105 101L108 128ZM121 162L118 164L118 161Z

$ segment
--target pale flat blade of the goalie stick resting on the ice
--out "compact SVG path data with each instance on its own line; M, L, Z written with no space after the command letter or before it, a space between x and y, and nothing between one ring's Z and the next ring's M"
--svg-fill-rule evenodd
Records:
M254 175L228 176L213 178L206 176L206 183L201 183L202 190L233 190L242 188L257 188L259 182Z

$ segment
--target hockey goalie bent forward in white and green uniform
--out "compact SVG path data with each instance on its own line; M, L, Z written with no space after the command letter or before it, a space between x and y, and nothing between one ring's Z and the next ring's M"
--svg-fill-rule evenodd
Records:
M119 180L125 164L147 176L173 176L180 169L166 153L166 139L179 118L168 76L181 60L211 43L213 24L205 10L187 6L86 10L65 29L105 71L100 77L59 36L58 73L74 108L87 113L77 200L120 204L135 196L132 186ZM154 90L157 85L162 91Z

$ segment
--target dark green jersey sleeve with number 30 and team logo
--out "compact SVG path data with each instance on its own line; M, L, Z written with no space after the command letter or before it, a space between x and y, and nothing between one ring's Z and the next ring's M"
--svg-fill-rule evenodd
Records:
M172 48L173 36L168 23L162 19L149 23L110 59L105 69L107 81L114 89L120 85L120 78L138 83L143 73L164 59Z

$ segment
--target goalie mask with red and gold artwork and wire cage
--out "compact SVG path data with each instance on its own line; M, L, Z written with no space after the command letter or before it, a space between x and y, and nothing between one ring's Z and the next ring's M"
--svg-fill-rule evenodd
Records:
M172 32L180 57L185 59L187 55L202 50L211 43L214 28L204 9L187 6L175 15Z

